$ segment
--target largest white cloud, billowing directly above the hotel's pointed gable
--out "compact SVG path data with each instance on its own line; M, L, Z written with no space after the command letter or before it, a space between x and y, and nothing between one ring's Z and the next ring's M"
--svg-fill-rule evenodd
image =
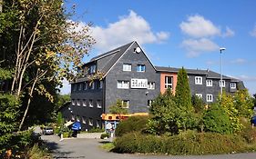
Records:
M162 43L169 38L168 32L153 33L148 22L132 10L129 15L120 16L117 22L110 23L107 27L93 26L91 31L97 41L95 47L101 51L108 51L131 41L138 41L143 45Z

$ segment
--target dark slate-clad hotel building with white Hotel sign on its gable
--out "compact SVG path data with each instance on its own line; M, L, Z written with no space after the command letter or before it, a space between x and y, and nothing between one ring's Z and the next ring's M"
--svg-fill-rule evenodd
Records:
M80 121L83 129L104 126L101 116L109 113L109 106L117 99L127 105L130 114L147 113L152 100L168 87L175 93L179 72L179 68L152 65L137 42L98 55L82 68L84 77L71 84L71 104L65 109L65 117ZM90 77L97 72L102 78L92 81ZM191 94L201 94L206 103L214 102L220 93L220 74L210 70L187 72ZM228 76L223 76L223 80L229 93L235 92L238 85L243 86L241 81Z

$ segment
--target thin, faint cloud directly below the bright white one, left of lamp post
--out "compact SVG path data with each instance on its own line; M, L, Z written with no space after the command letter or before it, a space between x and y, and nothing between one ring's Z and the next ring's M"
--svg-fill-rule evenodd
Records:
M196 57L203 52L212 52L219 49L219 45L216 45L208 38L183 40L181 46L188 51L187 55L189 57Z

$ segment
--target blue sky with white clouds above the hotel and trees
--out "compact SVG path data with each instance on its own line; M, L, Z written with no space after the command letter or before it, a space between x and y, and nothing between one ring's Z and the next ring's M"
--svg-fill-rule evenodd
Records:
M154 65L199 68L241 79L256 93L255 0L73 0L79 25L93 23L97 44L87 62L131 41L138 41ZM63 94L70 92L65 82Z

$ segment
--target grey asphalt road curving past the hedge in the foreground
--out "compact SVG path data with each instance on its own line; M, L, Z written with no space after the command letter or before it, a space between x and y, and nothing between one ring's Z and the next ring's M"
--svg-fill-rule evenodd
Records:
M146 155L115 154L101 149L100 139L65 139L59 141L56 135L43 135L55 159L255 159L256 153L214 154L214 155Z

